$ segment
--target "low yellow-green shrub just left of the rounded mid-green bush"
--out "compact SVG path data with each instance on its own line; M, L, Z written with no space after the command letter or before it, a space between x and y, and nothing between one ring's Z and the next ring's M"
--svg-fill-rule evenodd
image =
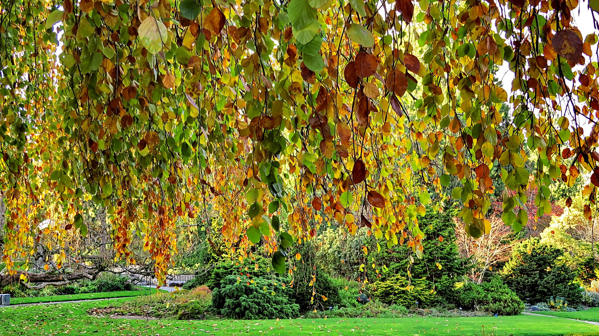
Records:
M408 288L408 286L410 286ZM404 307L431 306L435 294L432 293L430 283L425 279L408 280L395 275L385 281L377 281L372 288L373 297L385 304L396 304Z

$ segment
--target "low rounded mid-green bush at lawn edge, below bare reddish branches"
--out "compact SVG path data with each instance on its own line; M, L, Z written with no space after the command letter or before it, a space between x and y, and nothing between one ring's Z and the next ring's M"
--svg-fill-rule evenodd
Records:
M457 286L456 297L459 307L489 311L498 315L517 315L524 310L524 303L498 277L491 282L464 283Z

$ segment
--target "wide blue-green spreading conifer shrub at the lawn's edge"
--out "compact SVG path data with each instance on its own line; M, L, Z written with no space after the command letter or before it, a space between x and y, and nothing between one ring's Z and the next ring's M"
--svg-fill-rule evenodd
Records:
M289 282L289 280L285 280ZM299 316L293 289L262 277L226 276L212 294L211 311L230 319L291 319Z

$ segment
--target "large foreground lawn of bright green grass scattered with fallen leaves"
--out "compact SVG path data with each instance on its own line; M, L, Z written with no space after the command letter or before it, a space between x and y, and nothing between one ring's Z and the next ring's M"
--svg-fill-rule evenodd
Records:
M111 304L132 300L120 298ZM214 336L558 336L599 335L599 326L555 317L459 317L404 319L294 319L294 320L134 320L88 316L91 307L106 301L83 301L52 306L0 308L0 335L214 335Z

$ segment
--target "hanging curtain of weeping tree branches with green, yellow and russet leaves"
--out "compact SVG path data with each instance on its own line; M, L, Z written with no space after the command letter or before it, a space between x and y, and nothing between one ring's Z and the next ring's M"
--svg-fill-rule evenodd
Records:
M599 4L2 1L2 263L26 280L14 262L26 270L40 221L58 245L86 236L90 200L116 258L135 263L136 234L161 279L177 226L208 212L230 251L259 245L279 273L332 223L422 256L431 202L459 203L480 237L499 179L516 231L581 174L592 218L599 57L581 8Z

